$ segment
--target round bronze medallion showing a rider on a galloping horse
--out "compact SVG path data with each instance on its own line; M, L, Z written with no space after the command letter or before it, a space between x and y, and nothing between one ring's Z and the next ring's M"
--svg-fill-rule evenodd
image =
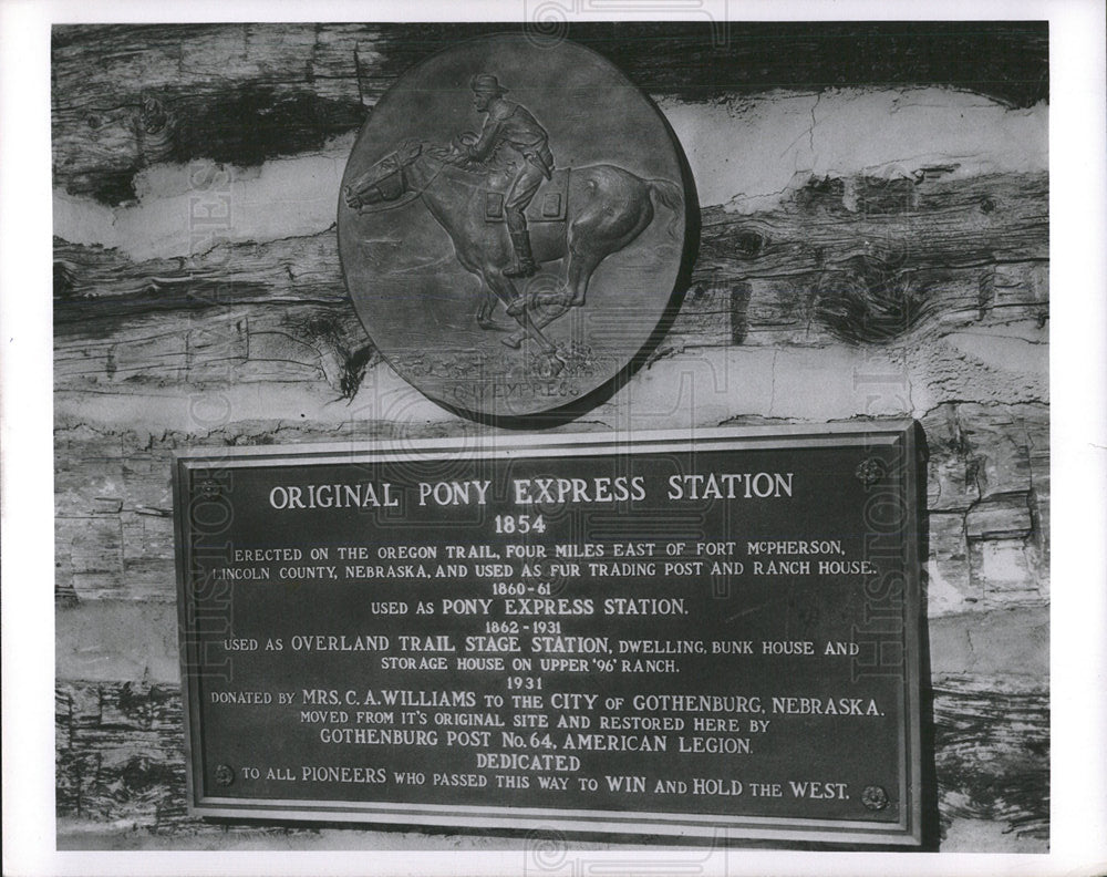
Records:
M680 145L570 42L472 40L407 71L354 144L339 254L405 380L474 416L572 406L674 307L695 208Z

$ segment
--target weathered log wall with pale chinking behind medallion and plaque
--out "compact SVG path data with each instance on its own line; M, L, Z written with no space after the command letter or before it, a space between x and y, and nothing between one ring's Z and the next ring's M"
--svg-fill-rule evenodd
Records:
M810 37L785 31L773 39L795 45ZM456 35L441 25L55 29L60 846L176 838L217 847L260 830L214 829L184 812L173 451L488 429L427 402L382 361L346 297L325 220L289 223L288 234L277 223L250 238L229 219L201 240L182 214L176 244L151 237L132 246L90 217L152 216L168 203L157 188L166 168L187 168L178 177L190 179L192 196L217 204L241 197L247 184L266 194L265 174L281 163L341 163L351 132L395 76ZM756 113L784 118L792 111L777 107L796 95L825 109L834 87L887 89L894 79L879 65L813 61L806 72L788 68L796 79L774 81L785 73L776 62L764 66L778 56L772 41L749 48L741 35L714 47L703 28L664 40L645 25L579 32L666 112L744 96ZM645 48L635 53L628 37ZM966 69L953 82L924 59L911 68L918 81L902 87L932 94L935 83L962 92L975 83L990 112L1044 113L1044 79L1034 79L1041 29L1001 37L983 43L999 53L980 62L992 75ZM816 54L829 58L848 39L896 45L879 29L835 39ZM1008 43L1028 71L1003 68L996 47ZM758 58L763 80L742 80ZM739 107L733 118L737 136L748 116ZM867 136L879 138L894 118L872 122ZM818 152L814 110L811 124ZM896 173L800 166L764 208L702 205L699 258L671 331L628 386L558 427L921 423L930 455L925 693L943 849L1044 849L1048 839L1044 148L1037 167L989 155L911 164L894 153L887 163L903 165ZM692 157L701 189L725 179L722 165ZM325 197L337 200L337 178L330 185ZM379 833L328 830L340 846L351 837L385 843ZM321 837L263 833L293 845Z

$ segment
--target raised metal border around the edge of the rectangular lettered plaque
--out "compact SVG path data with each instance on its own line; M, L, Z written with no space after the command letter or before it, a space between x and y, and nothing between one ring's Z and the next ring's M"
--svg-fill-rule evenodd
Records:
M195 643L186 636L189 625L184 510L188 474L193 470L271 465L325 465L436 460L469 454L484 458L528 458L537 455L634 454L720 450L805 450L820 447L900 447L897 471L903 485L908 524L919 506L920 467L924 462L913 420L876 420L863 423L784 424L691 430L608 433L554 433L548 435L492 433L465 438L351 441L341 443L197 447L174 453L173 518L177 574L178 647L184 724L185 783L190 816L224 819L359 823L448 828L551 829L582 834L654 835L710 838L714 842L784 840L826 844L920 846L922 844L921 741L921 559L919 530L903 527L903 697L899 747L900 818L894 823L816 819L794 816L747 816L664 813L660 811L588 811L552 807L507 807L470 804L415 804L391 802L230 798L204 795L203 729L198 692L189 667L197 666ZM906 726L904 726L906 725Z

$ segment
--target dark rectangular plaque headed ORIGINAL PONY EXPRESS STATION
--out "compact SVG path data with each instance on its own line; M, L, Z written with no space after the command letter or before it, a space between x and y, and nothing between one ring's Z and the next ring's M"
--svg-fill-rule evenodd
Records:
M919 844L913 429L179 455L192 812Z

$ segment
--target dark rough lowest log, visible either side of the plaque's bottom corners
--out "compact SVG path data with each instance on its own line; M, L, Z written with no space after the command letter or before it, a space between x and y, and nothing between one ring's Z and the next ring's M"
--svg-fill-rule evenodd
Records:
M949 677L934 685L933 718L943 827L987 818L1047 839L1048 695L1017 678ZM59 680L54 726L59 816L166 834L210 829L185 813L178 687Z

